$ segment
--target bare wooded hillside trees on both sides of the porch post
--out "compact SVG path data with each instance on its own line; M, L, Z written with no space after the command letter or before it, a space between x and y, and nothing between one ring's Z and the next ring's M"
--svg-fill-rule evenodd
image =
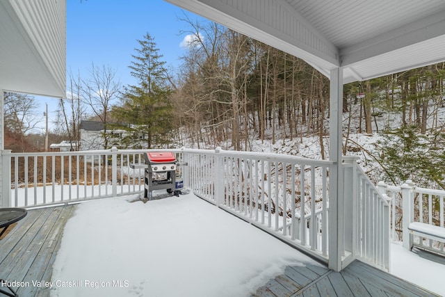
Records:
M275 143L327 134L329 81L320 72L218 24L189 24L194 42L173 95L180 136L198 147L229 141L234 150L250 150L254 139ZM400 114L403 127L416 126L421 134L442 129L437 111L443 106L444 67L349 83L343 112L359 120L359 133L388 129L389 122L380 127L377 120L383 112ZM346 133L350 128L345 122Z

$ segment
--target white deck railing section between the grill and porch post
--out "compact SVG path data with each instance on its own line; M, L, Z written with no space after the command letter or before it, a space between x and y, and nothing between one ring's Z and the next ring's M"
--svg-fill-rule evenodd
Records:
M332 162L220 148L183 153L195 195L327 261Z

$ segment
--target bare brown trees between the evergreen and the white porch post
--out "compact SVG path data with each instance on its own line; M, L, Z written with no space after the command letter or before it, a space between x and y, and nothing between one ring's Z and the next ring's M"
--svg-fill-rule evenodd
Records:
M193 26L174 95L177 127L198 145L324 134L329 81L302 60L218 24ZM312 99L307 99L307 98Z

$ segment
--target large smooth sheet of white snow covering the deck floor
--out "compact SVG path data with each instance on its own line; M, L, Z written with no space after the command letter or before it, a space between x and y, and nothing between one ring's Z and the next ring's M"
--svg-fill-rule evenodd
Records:
M249 296L306 264L320 265L195 195L108 198L68 221L51 296Z

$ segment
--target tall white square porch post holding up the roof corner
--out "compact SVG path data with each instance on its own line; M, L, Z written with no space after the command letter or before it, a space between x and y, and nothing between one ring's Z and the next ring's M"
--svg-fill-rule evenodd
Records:
M343 68L330 72L330 145L329 158L334 162L329 175L329 268L341 271L344 239L343 166L341 164L343 122Z

